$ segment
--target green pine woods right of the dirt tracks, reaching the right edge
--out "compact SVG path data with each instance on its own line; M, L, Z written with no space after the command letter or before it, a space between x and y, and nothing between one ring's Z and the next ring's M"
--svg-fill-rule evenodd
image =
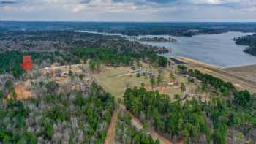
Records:
M189 70L189 75L202 80L202 91L214 89L209 102L200 99L181 102L181 96L171 101L158 91L128 88L124 94L127 109L140 120L170 140L183 139L186 143L244 143L255 140L255 94L238 91L232 83ZM241 141L234 141L239 135ZM235 137L235 138L234 138ZM236 139L238 140L238 138Z

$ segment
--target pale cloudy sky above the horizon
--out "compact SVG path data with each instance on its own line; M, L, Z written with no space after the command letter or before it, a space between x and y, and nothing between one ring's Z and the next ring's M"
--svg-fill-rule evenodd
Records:
M0 20L256 21L256 0L0 0Z

